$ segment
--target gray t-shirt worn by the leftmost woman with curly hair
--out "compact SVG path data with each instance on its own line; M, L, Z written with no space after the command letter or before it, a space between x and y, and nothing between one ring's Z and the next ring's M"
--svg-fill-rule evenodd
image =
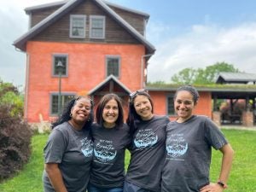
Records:
M85 192L90 177L93 143L89 131L65 122L55 127L44 147L44 162L57 163L68 192ZM44 170L44 191L54 192Z

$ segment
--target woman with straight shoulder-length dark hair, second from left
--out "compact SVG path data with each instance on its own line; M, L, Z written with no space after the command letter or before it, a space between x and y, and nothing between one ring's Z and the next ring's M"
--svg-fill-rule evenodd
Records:
M102 97L92 126L94 158L89 192L122 192L125 177L125 148L131 142L129 127L119 96Z

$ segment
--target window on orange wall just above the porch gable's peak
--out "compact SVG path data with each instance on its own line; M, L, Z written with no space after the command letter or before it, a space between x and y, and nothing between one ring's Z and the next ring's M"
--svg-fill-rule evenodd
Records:
M119 78L120 58L118 56L107 56L107 77L111 74Z

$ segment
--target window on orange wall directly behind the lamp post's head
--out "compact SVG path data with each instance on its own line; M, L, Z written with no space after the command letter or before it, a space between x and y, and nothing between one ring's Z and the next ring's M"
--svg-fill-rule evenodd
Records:
M58 63L61 62L62 67L58 67ZM53 55L53 76L67 77L67 55Z

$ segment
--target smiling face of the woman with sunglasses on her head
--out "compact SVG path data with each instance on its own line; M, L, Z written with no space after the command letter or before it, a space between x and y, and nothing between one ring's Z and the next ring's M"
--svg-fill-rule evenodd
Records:
M152 105L147 96L137 95L134 99L134 108L143 120L149 120L153 117Z

